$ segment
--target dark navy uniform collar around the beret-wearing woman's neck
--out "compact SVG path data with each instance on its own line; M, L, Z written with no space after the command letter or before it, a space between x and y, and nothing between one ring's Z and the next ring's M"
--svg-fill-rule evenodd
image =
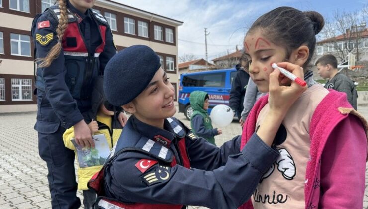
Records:
M175 133L168 120L164 120L164 129L148 125L131 116L134 128L143 136L169 147L175 138Z

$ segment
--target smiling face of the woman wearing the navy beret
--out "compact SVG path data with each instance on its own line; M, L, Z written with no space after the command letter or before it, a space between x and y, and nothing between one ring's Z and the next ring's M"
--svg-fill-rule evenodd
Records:
M140 121L162 128L164 119L172 117L176 108L174 106L174 87L162 68L139 94L133 102L124 105L124 109L134 114Z

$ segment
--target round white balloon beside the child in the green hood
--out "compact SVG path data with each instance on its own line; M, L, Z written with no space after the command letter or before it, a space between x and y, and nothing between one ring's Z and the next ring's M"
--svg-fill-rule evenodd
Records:
M211 120L217 127L228 126L234 118L233 110L225 104L218 104L211 111Z

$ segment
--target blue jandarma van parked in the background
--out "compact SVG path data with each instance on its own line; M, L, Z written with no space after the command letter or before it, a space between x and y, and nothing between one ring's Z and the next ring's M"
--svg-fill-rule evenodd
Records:
M190 120L193 109L190 106L189 96L196 90L208 93L210 104L208 114L217 104L229 105L230 89L235 75L235 68L182 74L178 96L179 112L183 112Z

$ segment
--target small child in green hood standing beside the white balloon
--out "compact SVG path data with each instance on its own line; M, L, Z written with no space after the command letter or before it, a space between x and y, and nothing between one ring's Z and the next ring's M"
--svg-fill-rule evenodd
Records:
M216 145L215 136L222 134L222 130L212 127L211 118L207 114L209 106L209 96L207 92L193 91L190 93L189 100L194 110L190 117L192 131L197 136L203 137L210 143Z

